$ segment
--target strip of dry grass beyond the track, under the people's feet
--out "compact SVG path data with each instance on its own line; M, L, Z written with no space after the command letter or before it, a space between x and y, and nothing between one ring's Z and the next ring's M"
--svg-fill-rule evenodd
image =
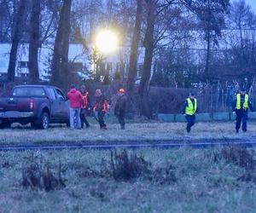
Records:
M49 130L14 128L2 130L1 143L18 142L118 142L118 141L193 141L220 139L252 139L256 135L256 123L248 124L247 133L236 134L235 124L199 123L187 134L184 123L144 123L127 124L126 130L119 130L118 124L109 124L108 130L99 130L96 124L90 129L69 130L53 127Z

